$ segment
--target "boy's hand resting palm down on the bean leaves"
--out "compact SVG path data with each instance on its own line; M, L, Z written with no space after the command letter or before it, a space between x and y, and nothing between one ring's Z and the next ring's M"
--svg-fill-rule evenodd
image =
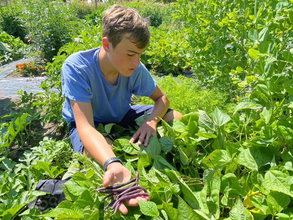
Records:
M133 143L139 136L137 144L141 145L144 137L146 137L144 141L144 146L146 147L149 144L150 135L157 136L157 122L154 120L145 120L130 139L130 143Z

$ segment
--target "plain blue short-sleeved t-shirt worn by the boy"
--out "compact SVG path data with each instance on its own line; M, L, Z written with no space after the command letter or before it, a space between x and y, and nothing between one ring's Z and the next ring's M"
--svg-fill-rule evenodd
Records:
M68 125L74 121L69 99L90 102L94 121L117 123L130 109L132 94L149 97L154 92L156 82L142 63L129 77L119 74L116 86L109 84L99 68L99 49L73 53L63 63L62 115Z

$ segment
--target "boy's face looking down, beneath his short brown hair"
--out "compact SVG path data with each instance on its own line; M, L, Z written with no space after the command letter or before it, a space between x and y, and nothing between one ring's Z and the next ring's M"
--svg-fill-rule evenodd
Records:
M128 35L125 35L126 37ZM144 49L137 46L125 37L122 38L115 48L109 44L109 60L114 69L123 76L130 76L137 66L140 65L140 55Z

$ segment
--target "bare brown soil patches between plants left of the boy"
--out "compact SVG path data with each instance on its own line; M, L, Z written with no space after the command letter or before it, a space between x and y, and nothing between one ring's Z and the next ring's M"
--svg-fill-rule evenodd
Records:
M4 116L6 114L9 114L10 110L9 108L4 108L4 106L8 102L14 102L14 103L19 103L20 100L17 99L16 97L0 97L0 116ZM14 111L17 111L17 107L13 107ZM3 118L1 120L4 121L11 121L10 117ZM24 150L19 150L16 152L13 152L9 154L9 158L14 160L15 162L19 163L19 158L23 156L23 153L25 150L29 149L30 147L35 147L38 145L40 141L43 140L44 137L49 137L56 139L56 141L62 140L67 136L66 134L66 127L63 129L58 129L59 124L57 123L44 123L44 125L41 125L40 120L35 120L31 123L31 133L33 133L34 139L28 139L25 143L24 146L26 149ZM10 146L10 151L13 151L15 149L18 149L19 146L17 143L13 143L13 145Z

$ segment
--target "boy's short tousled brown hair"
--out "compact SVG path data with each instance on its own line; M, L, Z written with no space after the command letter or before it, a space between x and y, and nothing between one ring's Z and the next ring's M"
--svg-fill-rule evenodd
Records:
M102 25L102 37L107 37L113 48L121 42L125 34L130 34L127 39L139 49L146 48L149 44L149 22L143 19L135 9L113 5L105 11Z

